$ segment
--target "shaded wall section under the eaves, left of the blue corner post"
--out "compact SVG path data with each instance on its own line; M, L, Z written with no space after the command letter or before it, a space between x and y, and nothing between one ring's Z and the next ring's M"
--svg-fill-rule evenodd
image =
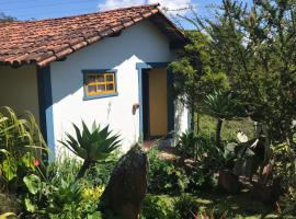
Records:
M37 74L35 66L0 67L0 107L9 106L18 115L30 111L39 123Z

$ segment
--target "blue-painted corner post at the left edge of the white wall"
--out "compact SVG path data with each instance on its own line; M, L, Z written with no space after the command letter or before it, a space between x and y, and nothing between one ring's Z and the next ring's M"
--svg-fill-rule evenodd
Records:
M37 67L41 130L49 147L49 161L55 159L55 132L50 66Z

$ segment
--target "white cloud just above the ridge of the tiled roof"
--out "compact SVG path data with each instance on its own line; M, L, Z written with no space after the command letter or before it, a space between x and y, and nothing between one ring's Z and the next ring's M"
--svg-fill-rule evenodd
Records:
M104 0L102 3L98 4L100 11L124 8L124 7L134 7L139 4L150 4L150 3L160 3L161 9L168 9L170 14L184 14L186 11L177 11L178 9L187 8L192 0ZM172 11L170 11L172 10Z

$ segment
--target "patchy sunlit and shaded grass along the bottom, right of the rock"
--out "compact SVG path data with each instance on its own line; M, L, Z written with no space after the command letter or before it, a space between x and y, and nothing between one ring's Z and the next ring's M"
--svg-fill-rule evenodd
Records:
M207 189L189 195L196 199L198 212L214 210L218 215L226 214L226 218L234 219L278 218L273 207L252 200L248 193L227 195L217 189ZM158 196L169 206L172 206L172 203L177 197L170 195Z

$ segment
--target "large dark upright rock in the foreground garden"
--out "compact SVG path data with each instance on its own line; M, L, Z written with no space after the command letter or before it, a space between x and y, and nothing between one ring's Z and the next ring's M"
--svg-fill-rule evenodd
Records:
M138 219L147 191L148 158L138 145L116 164L102 195L103 211L121 219Z

